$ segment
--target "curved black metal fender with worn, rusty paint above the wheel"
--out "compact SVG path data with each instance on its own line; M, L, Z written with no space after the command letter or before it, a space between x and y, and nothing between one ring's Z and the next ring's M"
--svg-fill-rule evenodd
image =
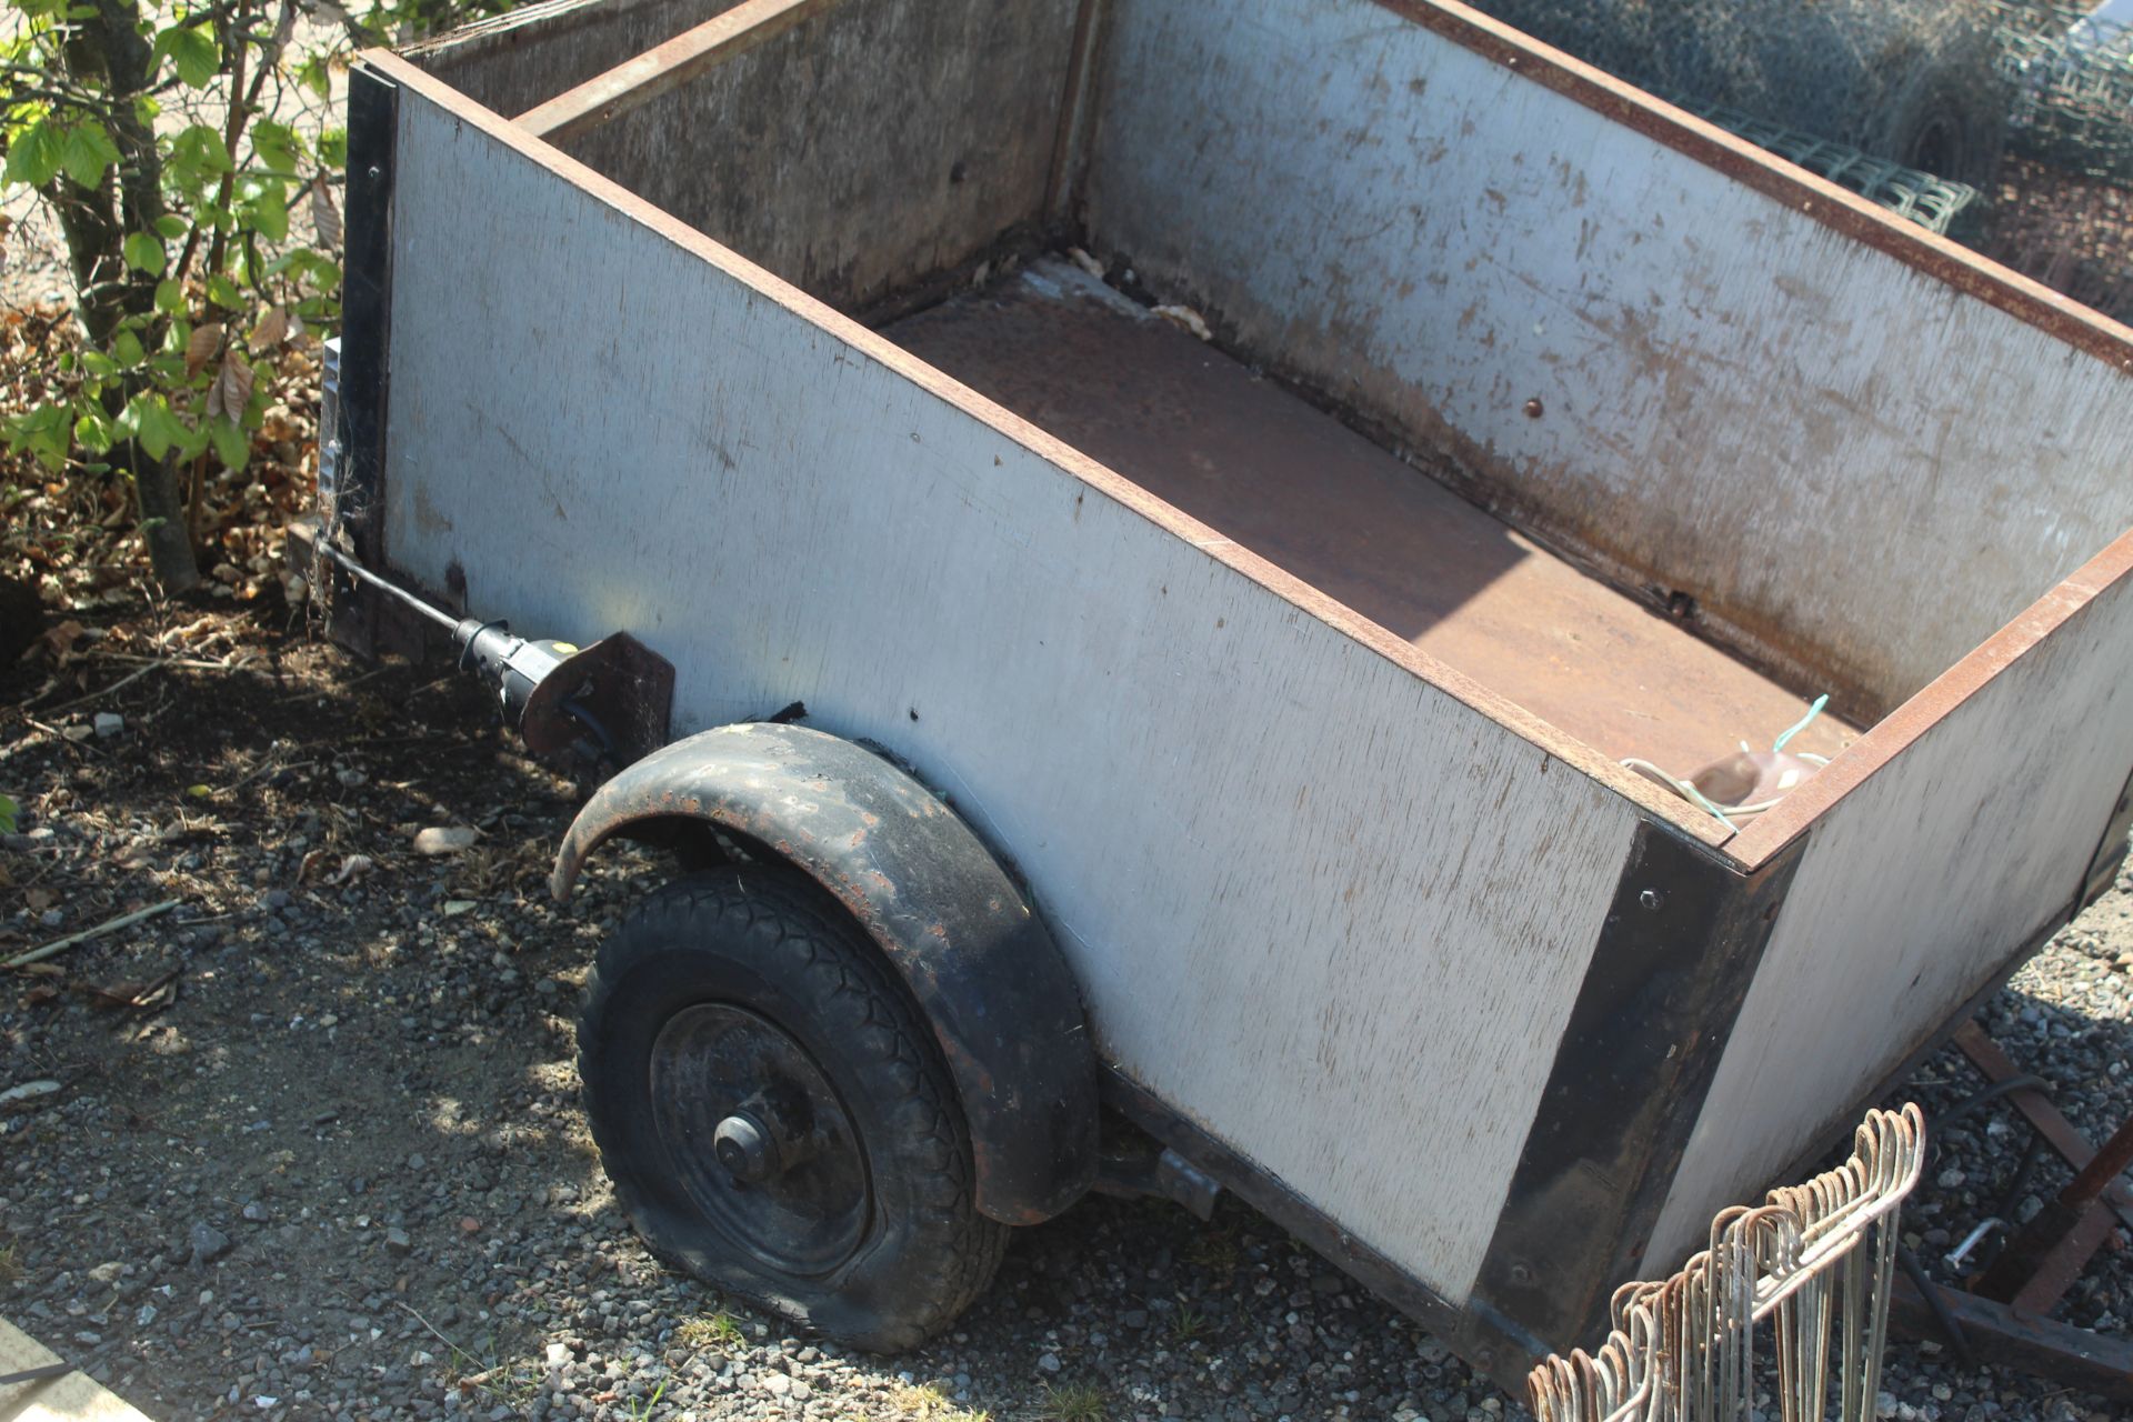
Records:
M708 823L819 883L881 947L941 1043L971 1124L977 1209L1039 1224L1096 1179L1096 1057L1049 930L992 851L887 759L796 725L678 740L584 804L557 900L614 834Z

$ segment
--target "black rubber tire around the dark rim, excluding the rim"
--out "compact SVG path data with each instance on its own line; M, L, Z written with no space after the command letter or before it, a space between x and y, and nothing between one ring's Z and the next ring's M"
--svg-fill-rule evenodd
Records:
M796 1275L729 1239L680 1185L653 1106L676 1013L725 1004L793 1038L834 1087L866 1162L866 1224L834 1269ZM672 1269L868 1352L915 1347L992 1281L1007 1226L973 1207L971 1136L917 1006L832 900L781 866L653 893L599 949L578 1074L602 1164Z

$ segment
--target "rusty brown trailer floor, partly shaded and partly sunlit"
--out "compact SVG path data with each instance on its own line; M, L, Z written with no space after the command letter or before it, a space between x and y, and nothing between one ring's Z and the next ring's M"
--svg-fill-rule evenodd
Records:
M1077 266L883 335L1610 757L1674 774L1805 701ZM1834 755L1822 716L1790 748Z

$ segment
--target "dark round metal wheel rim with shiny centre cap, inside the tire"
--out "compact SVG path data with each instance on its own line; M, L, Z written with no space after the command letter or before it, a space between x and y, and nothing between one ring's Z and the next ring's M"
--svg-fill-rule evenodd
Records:
M793 1275L860 1247L872 1190L845 1104L768 1017L683 1008L651 1051L651 1104L676 1183L736 1247Z

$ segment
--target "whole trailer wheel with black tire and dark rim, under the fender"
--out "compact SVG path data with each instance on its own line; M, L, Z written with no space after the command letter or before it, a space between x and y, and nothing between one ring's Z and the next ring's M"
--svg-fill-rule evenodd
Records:
M693 874L629 915L593 968L578 1074L631 1224L706 1283L896 1352L1000 1264L932 1034L783 868Z

